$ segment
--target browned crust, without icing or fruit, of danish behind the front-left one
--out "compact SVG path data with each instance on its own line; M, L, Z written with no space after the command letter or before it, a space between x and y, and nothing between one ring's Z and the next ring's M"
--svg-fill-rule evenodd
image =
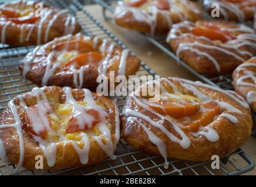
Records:
M86 43L89 43L93 46L93 40L94 37L88 37L83 36L82 34L76 34L75 36L63 36L56 38L53 41L50 41L49 43L46 43L43 45L38 51L35 52L35 56L31 63L31 68L26 74L26 78L32 82L35 82L36 85L42 86L42 79L43 75L45 75L46 71L46 58L49 56L50 52L52 51L53 47L57 43L65 43L67 41L84 41ZM109 47L112 43L107 42L106 43L106 49L101 52L101 47L103 45L103 40L98 39L97 45L95 46L95 50L102 54L102 56L105 58L109 53L107 52L109 50ZM113 60L120 60L120 56L122 54L122 47L115 46L113 53L111 54L110 58ZM19 66L19 70L21 74L23 74L23 67L25 63L28 63L29 60L31 60L31 56L33 56L33 53L29 53L26 58L22 61L21 65ZM54 60L54 59L53 59ZM53 62L53 64L56 62ZM52 64L52 65L53 65ZM111 67L108 68L109 71L115 71L115 75L118 74L118 65L111 65ZM126 58L126 77L129 75L133 75L136 73L137 70L139 70L140 67L140 60L139 58L133 56L132 54L128 54ZM98 67L96 65L86 65L83 70L83 85L82 88L88 88L92 91L95 91L97 88L97 76L99 75ZM63 70L62 67L58 67L55 70L55 73L49 78L48 85L55 85L55 86L70 86L71 88L75 88L75 81L74 81L74 71L73 70Z

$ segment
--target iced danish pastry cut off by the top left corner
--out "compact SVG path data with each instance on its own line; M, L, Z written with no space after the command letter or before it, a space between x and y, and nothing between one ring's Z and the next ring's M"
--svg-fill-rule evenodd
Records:
M43 5L37 15L35 1L12 1L0 6L1 43L12 47L46 43L55 37L75 34L80 26L67 10Z

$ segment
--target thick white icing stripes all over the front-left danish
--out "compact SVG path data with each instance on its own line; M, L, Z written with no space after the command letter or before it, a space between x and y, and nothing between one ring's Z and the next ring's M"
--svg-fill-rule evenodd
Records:
M71 88L65 87L64 91L66 93L66 103L72 104L73 113L76 115L76 114L78 114L77 112L81 112L82 106L78 105L76 100L73 98ZM89 91L89 89L83 89L83 91L85 93L84 101L86 101L91 108L99 110L100 115L106 116L107 113L105 112L105 110L103 110L100 106L96 105L96 103L93 99L92 93ZM33 88L32 92L35 94L36 100L38 103L38 108L37 108L38 116L39 116L38 120L42 120L42 121L44 121L45 124L49 124L49 122L45 121L46 120L45 116L43 116L43 115L45 115L45 112L43 109L45 106L44 107L39 106L42 103L46 103L46 104L44 104L46 106L49 105L48 99L47 99L45 93L42 91L41 88ZM17 97L19 99L20 106L23 107L26 111L28 111L30 108L26 105L22 96L18 95ZM0 126L0 130L4 129L4 128L11 127L11 128L15 128L18 133L20 156L19 156L18 166L16 169L19 169L19 168L21 168L21 166L23 164L23 159L24 159L24 154L25 154L25 148L24 148L24 142L23 142L23 136L22 136L22 122L21 122L21 118L18 115L18 111L17 111L17 108L16 108L13 100L9 101L8 106L11 109L12 115L14 116L15 123L14 124L2 124ZM116 147L116 144L118 143L119 138L120 138L119 111L118 111L117 106L116 106L115 114L116 114L116 117L115 117L115 119L116 119L116 134L114 136L114 145L113 145L112 139L111 139L111 137L112 137L111 132L105 124L105 123L107 123L106 121L99 124L99 130L102 132L102 136L105 138L106 143L104 144L99 137L93 136L93 138L95 138L95 140L97 141L99 146L102 147L102 150L105 151L106 154L109 155L109 157L112 159L116 158L116 156L114 155L114 148ZM83 116L83 120L86 120L86 122L89 122L90 119ZM45 126L45 124L43 126ZM38 121L36 122L35 120L32 120L33 129L37 132L41 129L39 127L39 125L40 124L38 124ZM41 123L41 125L42 125L42 123ZM46 127L47 127L47 125L46 125ZM53 132L53 130L50 129L49 126L47 127L47 129L50 131L50 133ZM80 133L80 135L82 136L82 141L84 143L83 148L80 148L76 144L76 142L73 140L64 140L64 144L70 142L72 144L73 148L75 149L76 153L78 153L80 162L82 164L87 164L88 159L89 159L90 141L89 141L89 137L87 136L86 133L82 132L82 133ZM45 154L48 166L53 167L56 162L57 144L50 143L50 145L48 145L48 143L45 140L43 140L41 137L34 136L34 138L36 141L39 142L39 146L42 148L42 151ZM8 162L8 157L6 155L4 142L1 140L1 136L0 136L0 159L6 163Z

